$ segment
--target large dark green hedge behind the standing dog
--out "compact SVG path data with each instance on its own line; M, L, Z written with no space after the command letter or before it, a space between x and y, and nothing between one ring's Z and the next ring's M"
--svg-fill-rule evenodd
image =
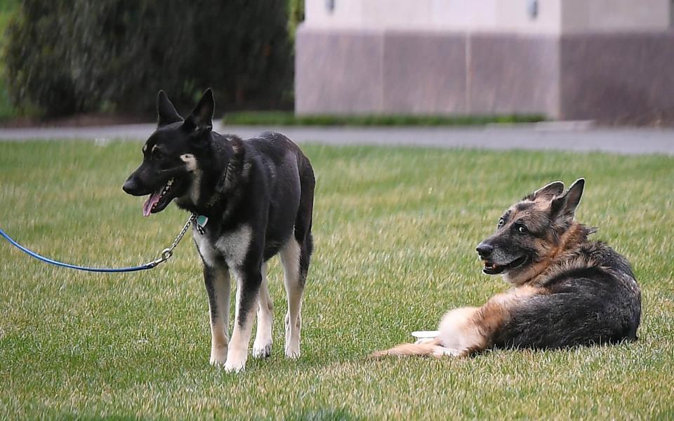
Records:
M24 0L8 27L21 109L152 112L212 87L218 109L283 105L292 89L288 0Z

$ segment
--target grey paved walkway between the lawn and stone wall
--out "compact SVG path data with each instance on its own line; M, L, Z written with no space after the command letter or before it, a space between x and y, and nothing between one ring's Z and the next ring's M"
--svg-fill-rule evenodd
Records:
M299 143L329 145L409 145L476 149L543 149L601 151L616 154L666 154L674 156L674 129L593 128L586 123L535 123L480 127L251 127L216 123L216 131L244 138L263 130L284 133ZM145 140L154 124L83 128L0 129L0 140L35 139Z

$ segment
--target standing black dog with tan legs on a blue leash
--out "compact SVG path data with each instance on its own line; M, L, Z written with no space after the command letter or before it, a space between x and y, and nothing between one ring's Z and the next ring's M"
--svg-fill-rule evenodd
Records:
M225 370L246 366L257 308L253 356L270 356L272 300L265 262L279 254L288 312L286 356L300 355L300 308L312 253L315 179L300 149L284 135L263 133L242 140L212 130L209 89L187 119L159 92L157 130L145 142L143 163L124 191L149 194L143 215L161 212L175 199L199 215L194 242L204 262L211 315L211 364ZM228 333L230 270L237 278L234 333Z

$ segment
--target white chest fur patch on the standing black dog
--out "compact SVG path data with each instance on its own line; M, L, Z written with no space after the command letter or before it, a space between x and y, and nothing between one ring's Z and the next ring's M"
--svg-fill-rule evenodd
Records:
M199 253L209 266L214 266L218 257L225 259L229 267L241 266L251 243L251 227L248 225L225 232L216 239L215 243L211 242L207 234L201 235L196 229L193 234Z

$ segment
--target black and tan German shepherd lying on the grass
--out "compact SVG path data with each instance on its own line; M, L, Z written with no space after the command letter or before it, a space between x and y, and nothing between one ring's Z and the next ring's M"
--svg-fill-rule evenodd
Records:
M585 180L553 182L515 203L477 246L483 272L513 285L482 307L454 309L437 337L374 356L466 356L635 340L641 293L628 261L574 220Z

